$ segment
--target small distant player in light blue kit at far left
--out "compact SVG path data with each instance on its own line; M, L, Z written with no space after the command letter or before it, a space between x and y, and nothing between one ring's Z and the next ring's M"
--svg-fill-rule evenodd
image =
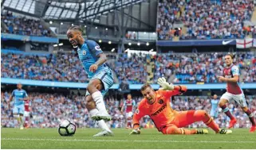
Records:
M28 100L28 94L26 94L26 90L22 89L22 84L17 84L18 89L13 90L12 94L10 95L10 99L8 105L10 106L10 102L14 98L14 117L18 120L20 124L20 129L24 129L23 127L23 114L24 114L24 101Z

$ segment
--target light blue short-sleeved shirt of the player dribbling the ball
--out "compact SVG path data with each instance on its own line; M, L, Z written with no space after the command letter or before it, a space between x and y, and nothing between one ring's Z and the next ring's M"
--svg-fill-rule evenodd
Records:
M99 59L97 56L100 53L103 53L99 44L97 44L94 40L85 40L85 43L82 44L81 48L77 49L77 53L89 79L92 79L93 75L96 75L100 71L111 71L111 69L105 63L98 66L96 72L89 71L91 65L96 63L96 61Z

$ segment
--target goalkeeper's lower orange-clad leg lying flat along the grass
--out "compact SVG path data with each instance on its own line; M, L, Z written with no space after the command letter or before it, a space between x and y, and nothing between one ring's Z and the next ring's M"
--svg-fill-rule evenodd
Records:
M165 127L162 130L163 134L199 134L199 130L197 129L183 129L183 128L178 128L176 125L170 125ZM207 130L204 131L204 133L208 133Z

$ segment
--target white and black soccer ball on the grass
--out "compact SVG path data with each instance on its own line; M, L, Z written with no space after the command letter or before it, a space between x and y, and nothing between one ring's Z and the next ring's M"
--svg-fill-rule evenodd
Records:
M73 136L76 133L76 125L73 123L73 121L64 120L61 121L61 124L59 125L57 131L61 136Z

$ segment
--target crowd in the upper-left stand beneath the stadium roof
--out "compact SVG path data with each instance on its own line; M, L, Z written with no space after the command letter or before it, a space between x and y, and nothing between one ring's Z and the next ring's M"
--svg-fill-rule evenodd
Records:
M1 22L6 25L6 28L1 28L1 33L51 37L50 30L41 25L40 20L14 16L13 13L4 11L1 13Z

